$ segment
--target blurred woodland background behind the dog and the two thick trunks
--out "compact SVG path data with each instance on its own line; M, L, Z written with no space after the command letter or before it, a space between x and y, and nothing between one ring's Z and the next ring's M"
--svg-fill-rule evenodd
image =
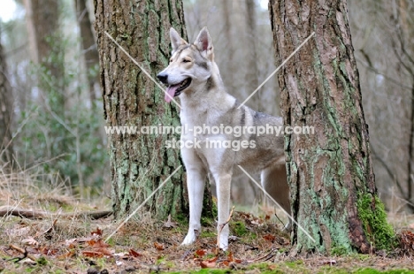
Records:
M10 83L4 85L2 80L0 105L12 117L10 125L0 128L12 133L12 141L0 140L0 151L6 148L0 152L0 171L12 163L13 171L35 173L36 184L52 189L65 186L67 194L83 201L109 197L93 3L41 2L14 1L12 19L0 25L0 64ZM266 1L183 3L189 41L203 26L209 28L226 88L244 100L276 68ZM414 2L349 0L348 5L380 198L389 212L411 214ZM50 29L54 35L40 40ZM249 100L249 107L279 115L277 85L276 77L269 80ZM8 150L13 151L12 158ZM246 179L238 180L234 202L258 202L254 186Z

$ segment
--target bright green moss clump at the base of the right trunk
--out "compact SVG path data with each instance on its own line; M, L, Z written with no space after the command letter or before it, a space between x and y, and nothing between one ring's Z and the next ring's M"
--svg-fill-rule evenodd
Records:
M384 204L377 196L363 194L357 201L357 209L365 235L374 243L375 248L391 250L396 246L394 229L387 223Z

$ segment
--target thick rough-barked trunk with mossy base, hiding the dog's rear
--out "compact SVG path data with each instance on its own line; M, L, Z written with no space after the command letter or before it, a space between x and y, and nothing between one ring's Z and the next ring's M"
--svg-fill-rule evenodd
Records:
M392 227L377 197L345 0L271 0L277 65L315 35L281 69L285 126L314 126L286 135L292 240L303 252L368 253L391 247Z

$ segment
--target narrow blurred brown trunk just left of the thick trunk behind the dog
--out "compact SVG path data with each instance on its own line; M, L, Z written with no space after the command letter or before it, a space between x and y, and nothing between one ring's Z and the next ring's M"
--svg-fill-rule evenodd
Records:
M88 74L89 99L90 103L94 105L96 100L95 84L99 81L97 72L99 56L96 49L96 39L92 31L86 1L74 0L74 2L76 6L76 17L80 28L80 38L82 40L82 51Z

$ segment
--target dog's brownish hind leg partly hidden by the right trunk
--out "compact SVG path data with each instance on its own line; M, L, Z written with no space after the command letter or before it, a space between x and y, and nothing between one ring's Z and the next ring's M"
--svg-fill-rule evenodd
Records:
M262 171L261 181L265 191L270 194L289 215L291 215L288 176L285 164L273 164ZM291 226L290 217L288 218L288 224L285 225L285 229L287 230L289 230Z

